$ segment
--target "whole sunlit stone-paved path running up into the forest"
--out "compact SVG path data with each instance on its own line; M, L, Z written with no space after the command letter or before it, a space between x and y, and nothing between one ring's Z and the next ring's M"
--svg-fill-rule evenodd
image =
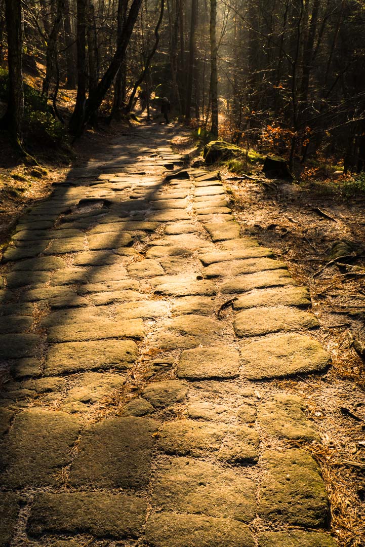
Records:
M72 170L4 253L1 546L335 545L319 436L265 381L329 364L308 290L176 131Z

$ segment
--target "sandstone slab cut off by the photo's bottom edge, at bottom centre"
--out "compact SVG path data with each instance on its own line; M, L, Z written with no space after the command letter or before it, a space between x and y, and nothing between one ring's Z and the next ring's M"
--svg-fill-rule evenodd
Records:
M254 547L250 529L243 522L201 515L151 515L146 525L151 547Z

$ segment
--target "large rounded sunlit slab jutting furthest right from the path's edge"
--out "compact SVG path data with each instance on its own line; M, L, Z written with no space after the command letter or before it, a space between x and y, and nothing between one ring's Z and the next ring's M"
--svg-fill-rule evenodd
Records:
M303 334L276 334L242 345L241 372L250 380L280 378L324 370L331 357Z

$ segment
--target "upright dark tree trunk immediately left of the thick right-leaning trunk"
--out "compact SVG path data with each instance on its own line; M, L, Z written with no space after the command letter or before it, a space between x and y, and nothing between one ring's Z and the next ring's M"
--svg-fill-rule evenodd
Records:
M77 72L78 86L76 104L69 121L69 130L78 131L80 120L84 118L86 100L86 3L87 0L77 0Z

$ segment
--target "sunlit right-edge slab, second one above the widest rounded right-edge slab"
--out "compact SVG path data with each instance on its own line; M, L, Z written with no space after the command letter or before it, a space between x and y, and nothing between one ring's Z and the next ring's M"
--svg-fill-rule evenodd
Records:
M295 306L308 308L311 304L307 287L276 287L272 289L254 289L234 299L235 310L244 310L255 306Z

